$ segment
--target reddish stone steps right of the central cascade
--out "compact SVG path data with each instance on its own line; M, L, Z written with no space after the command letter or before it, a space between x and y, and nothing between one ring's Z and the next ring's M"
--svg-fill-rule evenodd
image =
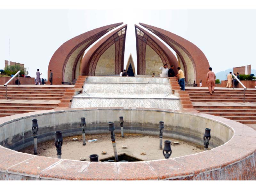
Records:
M256 89L218 89L212 95L208 89L186 88L194 109L201 113L221 116L243 124L256 124Z

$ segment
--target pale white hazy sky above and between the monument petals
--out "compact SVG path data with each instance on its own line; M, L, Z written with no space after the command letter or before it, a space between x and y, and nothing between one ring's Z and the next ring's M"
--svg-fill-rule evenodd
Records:
M0 10L0 18L0 69L10 58L24 63L32 77L37 68L47 77L49 61L64 42L117 22L128 24L124 65L130 53L137 64L134 24L142 22L195 44L215 73L244 65L256 68L256 10Z

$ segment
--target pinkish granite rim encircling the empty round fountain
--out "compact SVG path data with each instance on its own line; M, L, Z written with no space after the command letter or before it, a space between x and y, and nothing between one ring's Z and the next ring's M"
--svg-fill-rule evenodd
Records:
M133 110L124 108L78 108L47 110L20 114L5 118L10 123L18 119L42 114L84 110ZM82 162L35 156L0 146L0 172L42 178L46 180L228 180L252 179L256 172L256 131L252 128L222 117L196 112L145 109L166 113L186 114L206 118L230 128L234 136L227 143L212 150L193 155L146 162L110 163ZM43 112L43 113L42 113ZM18 119L16 119L18 117ZM221 122L219 122L221 121ZM3 125L3 120L0 120ZM250 169L254 170L250 172ZM227 173L231 177L228 178Z

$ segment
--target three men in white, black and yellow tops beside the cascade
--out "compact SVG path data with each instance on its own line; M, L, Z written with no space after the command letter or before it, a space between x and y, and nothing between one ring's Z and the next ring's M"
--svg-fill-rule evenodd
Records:
M160 77L177 77L177 80L179 82L180 85L180 89L182 91L185 91L185 76L184 76L184 72L180 69L180 67L178 67L178 74L175 75L174 74L174 66L172 65L170 69L167 68L167 64L164 64L164 66L161 66L159 68L160 70L162 70L162 73L160 75Z

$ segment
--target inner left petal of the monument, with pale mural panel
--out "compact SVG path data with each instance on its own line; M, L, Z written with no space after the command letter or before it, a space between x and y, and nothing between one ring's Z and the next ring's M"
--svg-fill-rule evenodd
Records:
M84 55L79 75L119 74L124 69L126 30L127 25L124 25L93 45Z

